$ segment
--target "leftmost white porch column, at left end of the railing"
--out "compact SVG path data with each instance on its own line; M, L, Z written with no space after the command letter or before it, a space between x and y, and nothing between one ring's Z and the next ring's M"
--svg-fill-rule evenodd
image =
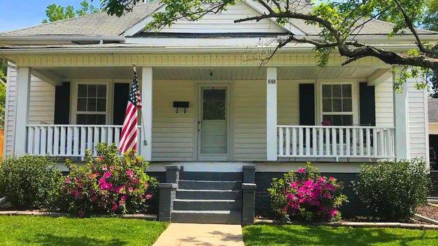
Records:
M26 153L27 120L29 117L30 68L18 68L16 81L16 117L14 152L18 155Z

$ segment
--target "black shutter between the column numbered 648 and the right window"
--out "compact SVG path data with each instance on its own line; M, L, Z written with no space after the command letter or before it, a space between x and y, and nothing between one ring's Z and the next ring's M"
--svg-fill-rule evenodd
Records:
M300 84L300 126L315 125L315 85Z

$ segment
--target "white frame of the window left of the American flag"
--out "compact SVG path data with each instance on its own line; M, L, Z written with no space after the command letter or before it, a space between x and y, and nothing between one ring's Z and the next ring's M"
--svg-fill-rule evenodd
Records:
M79 85L106 85L107 86L107 94L106 94L106 108L105 112L80 112L81 114L105 114L105 125L110 125L112 123L112 110L110 110L112 106L112 91L114 83L112 83L111 79L74 79L72 80L72 93L71 93L71 107L70 107L70 124L76 124L77 122L77 90Z

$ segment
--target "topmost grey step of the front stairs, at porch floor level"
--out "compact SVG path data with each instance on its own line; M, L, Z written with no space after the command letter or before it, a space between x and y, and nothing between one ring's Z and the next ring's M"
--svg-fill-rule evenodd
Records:
M179 180L242 181L242 172L181 172Z

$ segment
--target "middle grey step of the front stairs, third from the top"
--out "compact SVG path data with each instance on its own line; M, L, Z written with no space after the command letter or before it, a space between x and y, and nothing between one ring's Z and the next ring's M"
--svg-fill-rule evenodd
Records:
M185 200L239 200L242 199L242 191L224 190L177 190L177 199Z

